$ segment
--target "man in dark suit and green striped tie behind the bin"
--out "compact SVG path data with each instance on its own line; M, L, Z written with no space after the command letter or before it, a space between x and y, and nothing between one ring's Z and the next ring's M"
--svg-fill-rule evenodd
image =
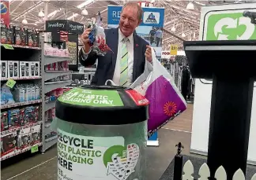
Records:
M128 2L123 6L119 28L105 30L107 46L113 52L108 51L104 57L97 56L88 45L90 28L81 35L84 46L79 52L80 63L85 67L91 66L98 59L93 85L101 86L111 79L116 85L130 86L144 72L145 63L152 63L149 43L135 32L135 28L141 24L142 14L141 6L136 2Z

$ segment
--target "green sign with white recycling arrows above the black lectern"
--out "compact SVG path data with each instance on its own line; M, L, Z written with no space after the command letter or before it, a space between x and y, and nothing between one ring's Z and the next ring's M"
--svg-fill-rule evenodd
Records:
M213 14L208 19L206 40L256 39L256 26L243 13Z

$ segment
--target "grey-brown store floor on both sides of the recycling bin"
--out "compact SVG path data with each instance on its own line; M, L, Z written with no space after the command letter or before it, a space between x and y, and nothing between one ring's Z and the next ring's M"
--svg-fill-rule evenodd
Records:
M157 180L164 173L176 153L175 145L182 141L184 154L189 154L190 133L161 129L160 147L149 147L147 151L147 180ZM54 180L57 179L56 148L49 149L44 155L38 154L19 163L2 168L2 180Z

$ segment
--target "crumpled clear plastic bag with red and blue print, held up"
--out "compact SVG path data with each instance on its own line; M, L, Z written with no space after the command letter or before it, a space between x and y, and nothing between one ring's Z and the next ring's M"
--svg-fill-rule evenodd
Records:
M106 44L106 35L101 24L102 18L99 12L96 22L92 24L92 31L89 33L88 38L89 45L92 46L92 51L99 56L104 56L111 49Z

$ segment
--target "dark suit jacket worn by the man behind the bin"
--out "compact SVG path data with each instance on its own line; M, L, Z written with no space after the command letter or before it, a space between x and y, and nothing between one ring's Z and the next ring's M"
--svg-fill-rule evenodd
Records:
M97 56L95 53L89 53L87 59L84 61L82 58L82 51L79 51L79 61L85 66L91 66L96 63L98 59L98 66L96 73L92 79L93 85L102 86L105 84L107 79L113 79L115 72L115 63L118 53L119 45L119 28L111 28L105 30L107 46L111 48L107 54L102 56ZM144 72L145 68L145 50L146 45L149 45L144 39L136 35L134 32L134 68L133 68L133 82Z

